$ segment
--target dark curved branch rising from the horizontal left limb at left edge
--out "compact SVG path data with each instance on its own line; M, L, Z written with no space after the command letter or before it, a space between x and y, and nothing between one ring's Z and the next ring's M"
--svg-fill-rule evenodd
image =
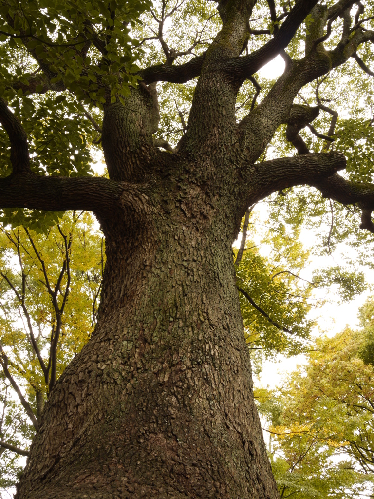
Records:
M26 132L18 118L10 111L4 99L0 98L0 123L10 140L10 161L13 173L30 171L30 159Z

